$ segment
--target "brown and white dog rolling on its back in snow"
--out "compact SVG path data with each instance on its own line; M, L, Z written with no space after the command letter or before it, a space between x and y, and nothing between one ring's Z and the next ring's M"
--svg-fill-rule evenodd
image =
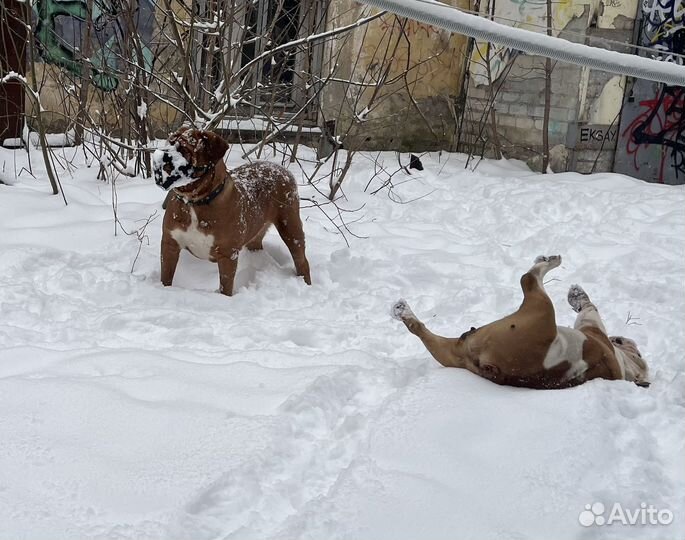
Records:
M433 334L404 300L393 306L392 315L443 366L465 368L498 384L567 388L601 377L649 386L647 364L635 342L609 337L597 308L578 285L568 292L568 302L578 313L574 327L557 326L542 279L560 264L559 255L535 259L521 277L523 303L518 311L459 338Z

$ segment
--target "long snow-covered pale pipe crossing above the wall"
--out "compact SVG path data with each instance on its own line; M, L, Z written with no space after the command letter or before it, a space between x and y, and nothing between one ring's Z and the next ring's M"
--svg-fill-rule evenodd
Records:
M685 67L671 62L590 47L521 28L512 28L431 0L360 1L456 34L498 43L530 54L618 75L685 86Z

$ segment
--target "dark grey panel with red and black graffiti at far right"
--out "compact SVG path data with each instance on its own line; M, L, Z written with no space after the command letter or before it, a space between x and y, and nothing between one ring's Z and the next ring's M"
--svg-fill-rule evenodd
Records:
M683 0L643 0L640 42L664 62L683 65ZM614 169L651 182L685 183L683 88L637 80L621 119Z

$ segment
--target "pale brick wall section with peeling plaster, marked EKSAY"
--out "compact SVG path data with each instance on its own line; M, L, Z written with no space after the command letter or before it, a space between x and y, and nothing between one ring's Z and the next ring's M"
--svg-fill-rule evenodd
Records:
M569 41L603 37L630 43L637 0L564 0L553 4L554 33ZM485 7L487 10L487 6ZM487 11L486 11L487 12ZM518 21L517 26L545 32L544 2L499 0L495 17ZM600 46L613 48L602 43ZM497 135L506 157L527 160L540 168L543 150L545 59L496 48L488 84L486 48L476 44L472 54L461 149L484 148L493 154L490 117L494 95ZM494 68L494 69L493 69ZM611 170L618 139L624 78L587 68L553 62L549 122L550 166L555 171Z

